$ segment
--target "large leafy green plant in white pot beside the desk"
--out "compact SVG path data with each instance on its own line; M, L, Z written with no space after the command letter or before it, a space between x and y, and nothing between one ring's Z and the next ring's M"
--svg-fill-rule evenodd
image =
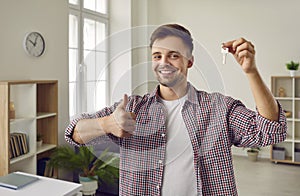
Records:
M91 146L81 146L78 152L70 146L59 146L50 156L55 168L76 171L82 184L83 195L96 193L98 183L113 183L119 177L119 157L105 149L99 157Z

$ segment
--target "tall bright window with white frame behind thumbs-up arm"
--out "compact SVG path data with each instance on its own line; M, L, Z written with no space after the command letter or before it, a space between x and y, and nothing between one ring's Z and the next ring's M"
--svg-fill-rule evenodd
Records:
M70 117L103 108L108 100L107 0L69 0Z

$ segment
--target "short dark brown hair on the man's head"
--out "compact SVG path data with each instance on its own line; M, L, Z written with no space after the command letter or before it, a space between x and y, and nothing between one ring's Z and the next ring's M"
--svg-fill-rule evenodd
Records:
M192 54L194 45L191 33L179 24L165 24L158 27L151 35L150 48L152 48L155 40L163 39L167 36L175 36L182 39L183 43L186 44L186 46L190 49L190 53Z

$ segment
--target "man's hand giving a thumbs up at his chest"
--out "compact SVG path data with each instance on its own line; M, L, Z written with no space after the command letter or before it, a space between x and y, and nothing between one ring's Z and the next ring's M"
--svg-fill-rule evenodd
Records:
M136 116L134 113L125 111L127 104L128 96L125 94L123 100L111 115L114 120L114 126L111 133L117 137L129 137L135 129Z

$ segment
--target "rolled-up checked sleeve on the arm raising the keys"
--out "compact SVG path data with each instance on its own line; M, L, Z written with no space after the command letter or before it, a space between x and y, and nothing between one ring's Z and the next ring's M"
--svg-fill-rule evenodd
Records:
M278 103L278 102L277 102ZM278 121L269 120L258 111L247 109L241 102L233 104L230 114L230 130L233 144L238 147L263 147L282 142L286 138L287 123L278 103Z

